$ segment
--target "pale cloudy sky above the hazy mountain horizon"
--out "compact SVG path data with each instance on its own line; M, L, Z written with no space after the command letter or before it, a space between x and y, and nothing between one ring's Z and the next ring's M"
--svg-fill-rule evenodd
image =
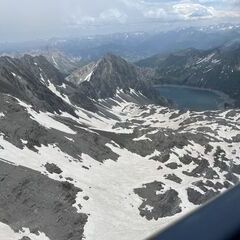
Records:
M240 0L0 0L0 41L240 23Z

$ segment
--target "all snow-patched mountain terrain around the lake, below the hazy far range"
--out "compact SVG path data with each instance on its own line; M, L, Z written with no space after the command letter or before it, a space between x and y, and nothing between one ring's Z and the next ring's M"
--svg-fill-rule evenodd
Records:
M239 182L238 43L138 66L57 56L0 57L0 239L146 239ZM156 83L236 104L181 111Z

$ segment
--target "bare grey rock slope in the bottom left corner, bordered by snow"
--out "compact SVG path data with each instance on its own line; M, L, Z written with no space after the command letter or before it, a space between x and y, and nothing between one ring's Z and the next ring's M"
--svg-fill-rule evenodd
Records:
M81 189L3 162L0 189L0 221L15 231L27 227L32 233L44 232L59 240L83 237L87 215L72 206Z

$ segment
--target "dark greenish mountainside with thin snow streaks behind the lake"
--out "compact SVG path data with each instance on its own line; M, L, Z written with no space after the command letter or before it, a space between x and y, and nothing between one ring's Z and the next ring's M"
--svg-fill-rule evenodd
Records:
M157 84L181 84L220 90L240 106L240 43L207 51L187 49L167 57L154 56L138 63L156 69Z

